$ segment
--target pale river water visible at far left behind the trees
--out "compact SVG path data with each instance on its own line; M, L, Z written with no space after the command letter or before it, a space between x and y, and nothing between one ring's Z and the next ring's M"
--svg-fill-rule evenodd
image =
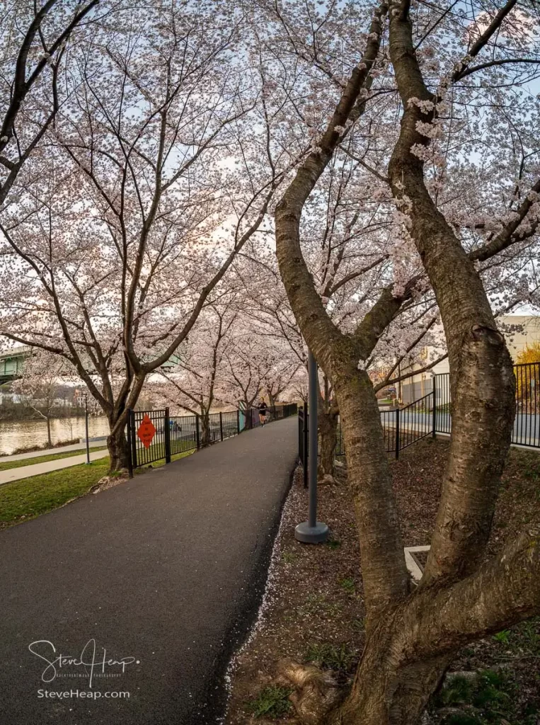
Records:
M88 418L88 434L91 438L107 436L107 418ZM84 438L84 418L54 418L51 421L52 442L72 438ZM47 442L45 421L0 421L0 453L12 453L17 448L39 446Z

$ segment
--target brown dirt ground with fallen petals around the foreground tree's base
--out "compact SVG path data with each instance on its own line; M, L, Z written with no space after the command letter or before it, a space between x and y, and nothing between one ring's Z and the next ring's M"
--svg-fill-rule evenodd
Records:
M436 518L446 439L425 439L391 460L405 546L429 543ZM540 518L540 452L512 449L502 482L489 552ZM302 471L283 511L259 621L230 667L227 725L294 724L291 690L279 679L281 658L315 663L347 682L362 653L364 605L360 550L345 468L338 484L319 488L317 519L326 544L294 539L307 513ZM433 724L540 725L540 621L462 650L430 708Z

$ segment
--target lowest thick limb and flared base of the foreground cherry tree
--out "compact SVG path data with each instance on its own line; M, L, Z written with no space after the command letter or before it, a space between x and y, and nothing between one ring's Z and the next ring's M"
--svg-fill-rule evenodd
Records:
M418 725L455 654L540 610L540 526L466 579L418 587L370 627L349 693L315 667L281 666L305 725ZM346 695L346 698L344 697Z

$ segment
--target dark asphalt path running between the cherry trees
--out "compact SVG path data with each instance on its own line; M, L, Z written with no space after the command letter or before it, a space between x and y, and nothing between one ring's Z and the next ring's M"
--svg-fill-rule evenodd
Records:
M217 722L226 663L262 594L296 425L246 431L0 534L5 722ZM92 643L83 653L93 638L95 655ZM61 654L75 662L55 671Z

